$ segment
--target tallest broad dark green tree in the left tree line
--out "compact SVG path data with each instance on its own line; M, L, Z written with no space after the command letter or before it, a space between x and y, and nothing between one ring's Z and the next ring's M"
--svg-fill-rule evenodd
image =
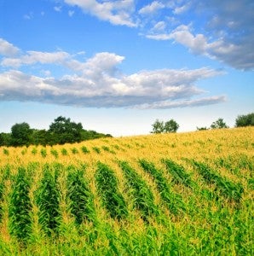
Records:
M81 123L71 122L71 119L59 116L49 125L52 143L79 143L82 140L83 126Z

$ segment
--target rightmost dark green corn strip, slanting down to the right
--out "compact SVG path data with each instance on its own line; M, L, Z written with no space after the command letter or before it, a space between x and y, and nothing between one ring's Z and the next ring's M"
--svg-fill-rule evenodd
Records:
M222 195L228 197L229 200L240 201L242 193L244 192L240 183L235 184L225 177L220 176L205 163L195 160L193 160L192 163L199 174L204 177L206 183L214 183L216 189L219 190Z

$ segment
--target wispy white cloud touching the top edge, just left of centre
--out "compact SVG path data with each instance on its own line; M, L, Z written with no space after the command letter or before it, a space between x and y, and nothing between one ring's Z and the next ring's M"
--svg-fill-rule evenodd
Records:
M106 1L64 0L65 3L78 6L85 13L94 15L100 20L107 20L113 25L136 26L131 14L134 11L134 0Z

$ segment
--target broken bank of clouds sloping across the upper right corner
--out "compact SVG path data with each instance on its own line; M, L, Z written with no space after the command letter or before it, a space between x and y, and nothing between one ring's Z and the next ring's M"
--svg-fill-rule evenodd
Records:
M141 8L134 0L64 2L113 25L136 27L147 38L183 44L193 54L241 70L254 68L252 0L150 0Z

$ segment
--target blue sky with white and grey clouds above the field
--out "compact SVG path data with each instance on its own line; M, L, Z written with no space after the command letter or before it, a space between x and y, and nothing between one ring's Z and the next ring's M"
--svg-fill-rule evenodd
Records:
M253 24L252 0L0 0L0 132L233 127L254 111Z

